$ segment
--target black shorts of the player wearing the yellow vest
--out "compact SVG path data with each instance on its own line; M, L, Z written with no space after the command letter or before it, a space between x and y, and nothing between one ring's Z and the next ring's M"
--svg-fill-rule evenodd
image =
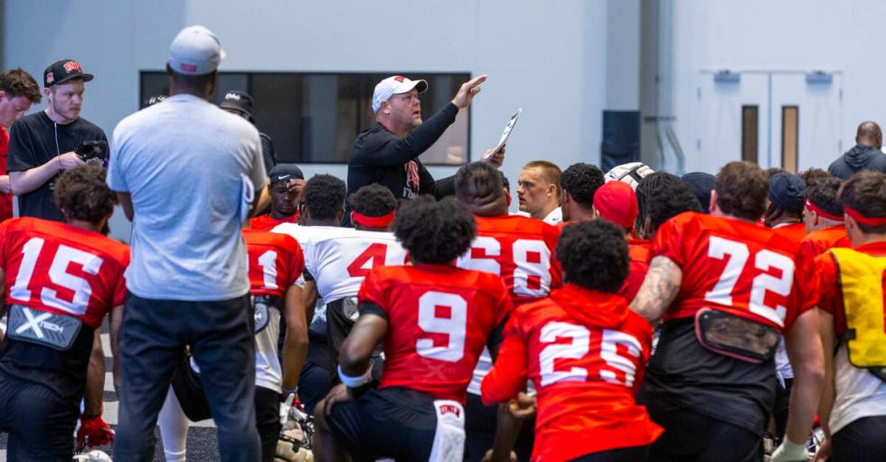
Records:
M886 416L862 417L834 433L833 462L886 460Z

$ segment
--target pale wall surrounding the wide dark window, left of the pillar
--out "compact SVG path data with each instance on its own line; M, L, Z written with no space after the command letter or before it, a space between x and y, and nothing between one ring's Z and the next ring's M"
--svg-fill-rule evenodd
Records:
M607 0L7 0L4 5L5 66L40 76L52 61L80 61L96 75L87 85L82 116L108 137L138 108L138 71L162 69L175 33L203 24L227 52L221 71L488 74L471 109L471 154L476 159L494 145L508 116L522 107L504 167L513 183L533 159L559 165L599 161L607 102ZM345 165L304 170L346 176ZM432 169L438 177L454 171Z

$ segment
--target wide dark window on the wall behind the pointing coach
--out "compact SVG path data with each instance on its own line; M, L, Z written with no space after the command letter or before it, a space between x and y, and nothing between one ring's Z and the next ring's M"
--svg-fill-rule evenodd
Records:
M372 127L372 90L389 73L219 72L214 101L231 90L246 91L255 99L256 127L274 140L279 162L346 164L353 139ZM421 94L421 118L427 120L448 104L467 72L410 73L428 80ZM167 94L165 72L141 72L141 104ZM426 165L462 165L470 158L469 111L456 121L424 155Z

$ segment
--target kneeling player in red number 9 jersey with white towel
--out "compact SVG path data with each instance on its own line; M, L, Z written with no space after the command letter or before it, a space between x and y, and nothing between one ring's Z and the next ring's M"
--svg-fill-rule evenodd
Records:
M452 265L476 235L474 217L452 199L403 206L394 234L412 266L372 269L358 295L360 317L339 356L342 385L316 407L317 460L395 458L461 461L464 403L477 358L501 342L511 301L502 278ZM370 387L370 358L385 362Z

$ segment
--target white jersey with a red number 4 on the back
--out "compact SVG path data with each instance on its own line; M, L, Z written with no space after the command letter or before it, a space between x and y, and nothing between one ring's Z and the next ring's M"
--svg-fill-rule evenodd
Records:
M406 250L391 232L290 223L273 231L289 234L301 244L305 270L326 303L356 297L371 269L406 262Z

